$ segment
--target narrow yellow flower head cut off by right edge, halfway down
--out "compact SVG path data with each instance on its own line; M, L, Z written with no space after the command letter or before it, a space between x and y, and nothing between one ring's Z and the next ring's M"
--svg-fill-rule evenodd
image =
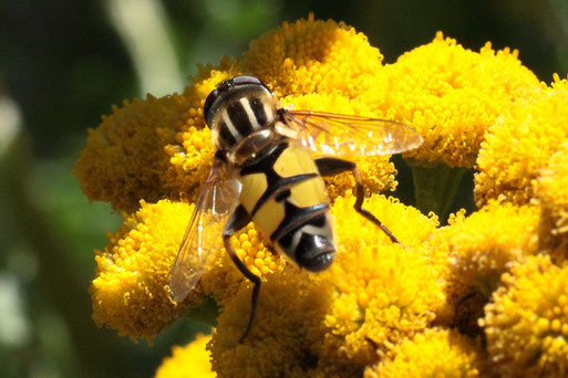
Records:
M540 177L534 189L544 208L543 238L551 240L549 248L567 251L568 242L568 141L552 155L548 167L540 170Z

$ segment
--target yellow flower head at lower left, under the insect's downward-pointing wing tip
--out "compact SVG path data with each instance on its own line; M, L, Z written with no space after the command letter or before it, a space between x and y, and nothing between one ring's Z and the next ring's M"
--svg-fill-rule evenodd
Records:
M176 316L169 277L192 207L141 202L109 244L96 252L91 283L93 319L132 339L151 340Z

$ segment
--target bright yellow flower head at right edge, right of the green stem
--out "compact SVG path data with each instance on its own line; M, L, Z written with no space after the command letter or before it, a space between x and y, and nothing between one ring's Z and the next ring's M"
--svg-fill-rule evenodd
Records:
M497 198L521 204L535 197L533 188L540 169L568 140L567 103L567 81L555 75L552 87L517 102L509 114L497 119L477 159L477 206Z

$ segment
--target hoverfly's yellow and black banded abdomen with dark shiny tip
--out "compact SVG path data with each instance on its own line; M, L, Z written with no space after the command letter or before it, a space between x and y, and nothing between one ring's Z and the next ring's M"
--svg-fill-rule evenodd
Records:
M329 197L310 153L283 141L240 170L240 202L278 252L321 271L335 248Z

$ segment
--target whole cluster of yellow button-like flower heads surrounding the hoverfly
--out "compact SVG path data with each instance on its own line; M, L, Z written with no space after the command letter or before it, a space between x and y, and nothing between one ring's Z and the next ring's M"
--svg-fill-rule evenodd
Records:
M551 251L568 245L568 84L538 83L517 55L489 43L473 52L438 33L383 66L363 34L310 15L252 41L240 60L200 66L179 95L113 107L75 167L85 195L125 218L96 251L95 323L152 340L177 317L208 312L213 337L174 349L158 377L211 376L210 367L239 377L565 375L568 267ZM397 185L390 157L353 157L363 208L401 244L353 209L351 174L326 179L337 255L324 272L299 270L248 224L230 242L261 291L239 344L252 284L220 242L204 245L211 263L183 303L169 281L214 156L205 98L240 73L265 81L283 106L413 125L425 141L406 157L432 168L416 186L477 165L481 209L441 228L436 214L376 193ZM487 347L472 342L483 332Z

